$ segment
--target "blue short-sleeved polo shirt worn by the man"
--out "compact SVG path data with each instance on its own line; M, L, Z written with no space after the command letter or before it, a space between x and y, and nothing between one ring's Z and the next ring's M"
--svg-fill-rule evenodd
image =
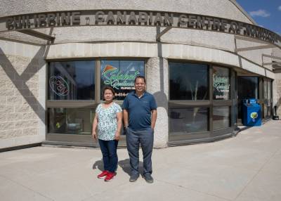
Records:
M156 110L155 98L145 91L138 98L133 91L126 96L122 108L129 112L129 128L135 131L151 127L151 110Z

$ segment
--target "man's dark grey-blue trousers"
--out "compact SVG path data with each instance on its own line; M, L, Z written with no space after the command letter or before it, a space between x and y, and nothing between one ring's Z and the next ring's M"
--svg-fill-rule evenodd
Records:
M143 150L143 174L152 174L152 149L153 149L153 139L154 131L151 128L134 131L133 129L126 129L126 144L127 150L130 157L131 174L139 174L138 164L139 155L138 150L141 144Z

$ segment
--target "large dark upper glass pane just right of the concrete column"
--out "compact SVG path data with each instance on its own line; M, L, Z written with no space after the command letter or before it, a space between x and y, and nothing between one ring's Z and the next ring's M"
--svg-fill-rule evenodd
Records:
M208 65L169 63L170 100L209 99Z

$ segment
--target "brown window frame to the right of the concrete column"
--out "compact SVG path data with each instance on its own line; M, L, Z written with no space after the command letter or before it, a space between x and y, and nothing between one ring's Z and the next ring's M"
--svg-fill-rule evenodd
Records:
M236 119L237 117L233 117L233 112L235 109L235 98L233 97L235 95L236 86L233 86L236 82L235 79L237 79L236 72L233 68L228 66L222 66L214 63L206 63L206 62L195 62L190 60L168 60L168 63L192 63L192 64L201 64L201 65L207 65L208 66L208 77L209 77L209 100L170 100L170 86L169 87L169 99L168 99L168 124L170 128L170 120L169 120L169 108L172 104L181 104L185 105L187 108L207 108L208 109L208 131L200 131L200 132L193 132L193 133L171 133L169 129L169 145L174 144L180 144L180 143L194 143L194 142L204 142L204 141L210 141L215 140L216 138L222 138L225 136L231 136L234 134L234 129L236 127ZM230 84L230 91L229 91L229 97L228 100L214 100L213 99L213 72L214 72L214 66L216 67L223 67L228 68L229 70L229 84ZM170 71L170 70L169 70ZM168 80L169 80L169 74L168 71ZM169 85L169 84L168 84ZM237 103L236 103L237 104ZM213 108L214 107L225 107L228 106L230 108L230 114L229 114L229 127L214 130L213 129ZM236 119L234 119L236 118Z

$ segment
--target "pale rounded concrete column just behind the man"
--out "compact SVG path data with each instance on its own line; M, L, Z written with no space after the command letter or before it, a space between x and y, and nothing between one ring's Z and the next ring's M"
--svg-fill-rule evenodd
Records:
M164 58L150 58L146 64L147 91L157 102L154 148L165 148L168 143L168 72L168 60Z

